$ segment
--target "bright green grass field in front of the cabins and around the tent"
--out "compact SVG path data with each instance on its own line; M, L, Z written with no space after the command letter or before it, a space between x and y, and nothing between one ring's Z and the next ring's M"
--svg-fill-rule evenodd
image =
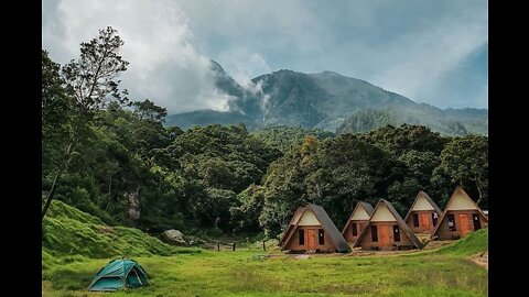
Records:
M166 252L163 245L158 249ZM257 248L235 252L174 249L165 256L152 252L132 256L145 268L150 286L101 294L89 293L86 287L111 257L94 258L94 251L85 251L87 256L68 255L44 248L42 293L43 296L156 297L487 296L488 271L469 260L487 249L486 229L438 250L397 255L295 258ZM270 253L279 256L258 256Z

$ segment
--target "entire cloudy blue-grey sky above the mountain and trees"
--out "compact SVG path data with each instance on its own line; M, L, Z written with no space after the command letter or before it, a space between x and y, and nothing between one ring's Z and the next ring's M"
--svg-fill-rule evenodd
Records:
M121 87L169 113L227 109L209 59L242 86L331 70L439 108L488 108L484 0L42 1L42 47L62 65L108 25L130 62Z

